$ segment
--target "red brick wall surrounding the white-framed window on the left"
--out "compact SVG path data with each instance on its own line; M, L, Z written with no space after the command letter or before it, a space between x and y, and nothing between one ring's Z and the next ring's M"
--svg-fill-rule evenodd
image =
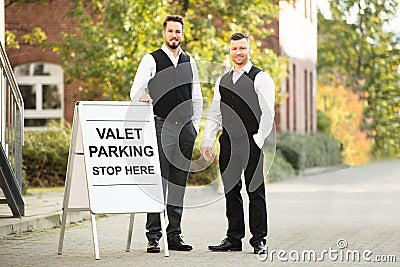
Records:
M72 32L76 22L66 14L72 3L68 0L52 0L44 4L13 3L6 8L6 30L16 34L18 40L34 27L40 27L47 35L48 42L62 41L61 32ZM23 44L20 49L8 49L7 55L12 66L30 62L49 62L60 64L58 55L51 49L43 50L37 45ZM72 122L75 99L74 92L79 84L64 85L64 117Z

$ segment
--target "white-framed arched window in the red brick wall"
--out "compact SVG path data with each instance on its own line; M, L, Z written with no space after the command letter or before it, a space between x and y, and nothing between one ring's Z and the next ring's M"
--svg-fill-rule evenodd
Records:
M15 77L25 106L25 127L45 127L61 122L64 106L64 77L61 66L35 62L16 66Z

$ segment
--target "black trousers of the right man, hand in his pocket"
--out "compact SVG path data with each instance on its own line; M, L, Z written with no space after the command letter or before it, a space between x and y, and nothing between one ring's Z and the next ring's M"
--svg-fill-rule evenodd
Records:
M250 244L263 241L268 233L267 205L263 174L264 155L252 136L232 137L225 132L219 139L219 166L226 199L228 218L227 237L233 244L245 235L241 174L244 170L246 192L249 197ZM231 145L232 144L232 145Z

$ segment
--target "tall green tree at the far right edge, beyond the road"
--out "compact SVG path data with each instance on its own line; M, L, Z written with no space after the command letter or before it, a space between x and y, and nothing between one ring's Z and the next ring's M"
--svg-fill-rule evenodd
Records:
M397 0L330 1L331 19L319 16L319 81L342 85L364 103L361 128L377 157L400 155L400 45L385 30Z

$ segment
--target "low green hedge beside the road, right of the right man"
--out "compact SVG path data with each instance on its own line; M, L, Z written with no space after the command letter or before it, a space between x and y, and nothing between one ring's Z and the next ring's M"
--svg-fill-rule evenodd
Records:
M276 148L295 170L342 162L340 144L323 133L304 135L284 132L278 135Z

